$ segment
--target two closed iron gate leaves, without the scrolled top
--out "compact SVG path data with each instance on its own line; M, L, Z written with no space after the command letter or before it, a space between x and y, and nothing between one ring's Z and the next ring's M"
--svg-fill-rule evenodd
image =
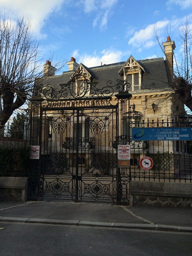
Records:
M117 105L42 108L41 116L43 197L116 201Z

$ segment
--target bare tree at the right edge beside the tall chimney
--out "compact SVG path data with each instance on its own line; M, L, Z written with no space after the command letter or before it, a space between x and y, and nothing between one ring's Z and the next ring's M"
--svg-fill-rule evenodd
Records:
M161 47L161 50L164 52L161 43L159 42L158 35L156 31L154 32L155 37L158 41L158 44ZM188 24L188 20L186 17L185 24L181 24L178 27L178 41L180 43L180 57L176 57L173 53L174 57L174 66L171 73L171 79L169 79L169 83L173 90L173 95L177 102L180 102L180 105L184 107L188 107L190 111L192 111L192 33L191 28ZM167 66L170 69L171 63L167 61ZM183 108L184 109L184 108Z

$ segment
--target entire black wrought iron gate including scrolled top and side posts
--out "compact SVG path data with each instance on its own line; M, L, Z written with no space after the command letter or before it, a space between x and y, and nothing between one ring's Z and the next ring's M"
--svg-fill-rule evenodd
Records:
M37 88L31 144L40 145L38 198L118 202L124 191L128 201L129 168L117 167L121 103L113 95L114 88L125 92L126 81L117 82L99 92L83 84L86 90L78 93L67 84L69 97L66 88L64 94L53 94L50 86Z

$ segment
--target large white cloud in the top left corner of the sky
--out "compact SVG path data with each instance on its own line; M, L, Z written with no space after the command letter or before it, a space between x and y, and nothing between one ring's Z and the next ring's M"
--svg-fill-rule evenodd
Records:
M0 0L0 9L4 9L6 15L12 20L24 16L31 20L31 30L38 38L46 37L40 33L45 19L53 11L58 11L65 0Z

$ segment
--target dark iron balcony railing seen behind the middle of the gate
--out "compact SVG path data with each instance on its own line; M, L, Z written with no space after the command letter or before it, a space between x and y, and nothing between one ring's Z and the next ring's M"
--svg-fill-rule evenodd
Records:
M66 137L63 148L75 150L78 143L78 149L93 149L94 148L94 138L81 137L76 140L76 138Z

